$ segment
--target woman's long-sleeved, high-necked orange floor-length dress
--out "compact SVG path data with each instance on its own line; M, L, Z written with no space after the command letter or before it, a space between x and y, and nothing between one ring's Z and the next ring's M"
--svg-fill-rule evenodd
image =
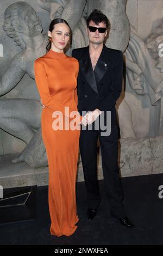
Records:
M78 60L50 50L34 62L35 81L45 108L42 108L41 127L48 167L48 203L51 234L70 236L77 229L76 174L80 130L53 130L54 111L64 115L63 125L73 121L65 113L77 111ZM82 118L81 118L82 120ZM77 125L79 126L79 125ZM65 127L65 126L64 126ZM79 127L78 127L79 128Z

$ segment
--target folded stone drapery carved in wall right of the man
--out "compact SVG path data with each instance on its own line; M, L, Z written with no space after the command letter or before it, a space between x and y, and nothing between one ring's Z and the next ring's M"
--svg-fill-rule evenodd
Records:
M162 96L163 76L160 70L155 69L156 60L151 57L145 42L132 26L126 58L131 89L139 95L148 94L151 105L155 105Z

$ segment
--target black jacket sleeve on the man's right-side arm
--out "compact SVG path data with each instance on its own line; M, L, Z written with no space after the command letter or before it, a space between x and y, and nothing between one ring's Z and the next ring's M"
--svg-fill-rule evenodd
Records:
M99 102L97 108L100 111L110 111L111 108L115 105L118 97L120 97L122 92L122 74L123 74L123 53L120 52L120 55L117 59L116 66L113 70L112 84L111 84L111 93L104 97L101 102Z

